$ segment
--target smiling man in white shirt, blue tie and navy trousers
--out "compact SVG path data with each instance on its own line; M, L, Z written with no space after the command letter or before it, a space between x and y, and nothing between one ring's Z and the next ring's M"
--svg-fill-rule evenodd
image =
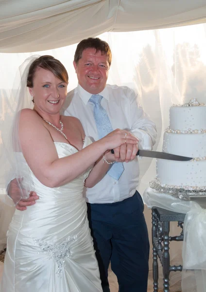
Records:
M103 127L123 128L137 136L140 148L151 149L155 125L137 104L137 94L125 86L106 84L111 59L109 45L99 38L84 39L78 44L73 61L78 86L68 94L65 115L80 119L86 136L94 140L100 138ZM99 119L102 115L103 125ZM101 182L85 191L103 292L110 291L110 262L119 292L147 292L149 239L144 205L136 191L138 161L130 161L136 151L137 146L122 145L115 156L129 163L119 163L119 169L111 171L113 175L108 171ZM11 183L9 195L15 198L15 192L15 183ZM20 201L17 209L24 210L36 199L33 193L28 200Z

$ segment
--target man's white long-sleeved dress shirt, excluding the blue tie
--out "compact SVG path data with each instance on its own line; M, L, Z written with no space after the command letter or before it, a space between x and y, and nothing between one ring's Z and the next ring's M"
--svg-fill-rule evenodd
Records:
M97 141L99 137L93 115L94 105L88 102L91 95L78 85L68 94L64 114L77 117L83 125L86 136ZM156 128L138 105L135 91L126 86L106 85L99 95L103 96L101 105L108 114L112 128L132 132L139 139L139 148L151 150L155 143ZM118 181L106 174L94 187L85 188L87 202L113 203L134 195L139 177L137 157L123 164L124 171Z

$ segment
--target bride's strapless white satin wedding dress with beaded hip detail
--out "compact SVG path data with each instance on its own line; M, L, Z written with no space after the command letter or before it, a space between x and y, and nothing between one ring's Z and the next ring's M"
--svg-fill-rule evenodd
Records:
M84 147L90 143L86 137ZM78 151L67 143L54 144L59 158ZM102 292L83 198L91 168L70 183L49 188L23 163L39 200L15 211L0 292Z

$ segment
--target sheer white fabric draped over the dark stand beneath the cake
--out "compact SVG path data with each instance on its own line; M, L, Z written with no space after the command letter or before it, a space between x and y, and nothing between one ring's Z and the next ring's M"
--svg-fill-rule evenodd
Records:
M143 200L149 208L156 206L186 214L182 247L182 292L206 292L206 200L192 199L194 201L182 201L151 188L147 188L143 194Z

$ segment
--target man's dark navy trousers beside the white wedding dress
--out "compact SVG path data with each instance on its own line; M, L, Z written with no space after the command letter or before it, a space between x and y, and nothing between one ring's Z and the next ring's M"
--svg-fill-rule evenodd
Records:
M103 292L110 292L110 261L119 292L147 292L150 247L139 193L111 204L87 203L87 209Z

